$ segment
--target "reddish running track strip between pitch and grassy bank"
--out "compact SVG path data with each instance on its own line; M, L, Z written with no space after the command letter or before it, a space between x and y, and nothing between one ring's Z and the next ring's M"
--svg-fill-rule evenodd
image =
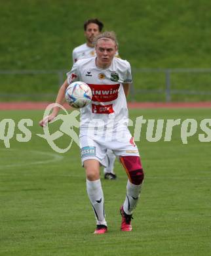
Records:
M0 102L0 110L45 110L51 102ZM65 108L69 108L64 104ZM128 108L211 108L211 102L128 102Z

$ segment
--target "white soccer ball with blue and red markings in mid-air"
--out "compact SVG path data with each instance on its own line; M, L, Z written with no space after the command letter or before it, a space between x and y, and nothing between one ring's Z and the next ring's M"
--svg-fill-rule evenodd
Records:
M92 90L86 83L73 82L66 89L66 101L73 108L83 108L92 101Z

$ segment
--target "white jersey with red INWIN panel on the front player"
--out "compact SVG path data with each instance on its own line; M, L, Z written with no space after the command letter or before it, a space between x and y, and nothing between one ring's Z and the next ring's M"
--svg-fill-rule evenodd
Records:
M81 108L81 129L125 129L128 108L123 83L132 83L130 64L113 58L111 66L98 68L94 58L78 60L67 73L67 83L83 81L92 89L92 102Z

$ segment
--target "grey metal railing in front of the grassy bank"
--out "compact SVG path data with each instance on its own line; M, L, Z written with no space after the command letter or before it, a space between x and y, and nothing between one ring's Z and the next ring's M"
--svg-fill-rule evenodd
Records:
M39 75L39 74L54 74L58 77L58 85L62 85L64 81L64 75L66 74L66 70L0 70L1 75ZM211 76L210 76L210 86L208 91L203 90L187 90L187 89L174 89L172 88L172 74L211 74L211 68L132 68L133 78L136 79L137 74L163 74L163 89L157 89L155 85L155 89L140 89L132 85L130 91L131 100L135 100L135 96L138 93L154 93L154 94L164 94L166 102L170 102L172 100L172 95L211 95ZM28 95L30 94L22 94ZM37 94L39 95L39 94ZM43 94L42 94L43 95ZM48 93L46 95L54 95L53 93ZM12 96L12 93L8 95L7 93L0 92L1 97L7 98L7 96ZM13 95L14 97L17 95ZM35 93L33 93L35 96Z

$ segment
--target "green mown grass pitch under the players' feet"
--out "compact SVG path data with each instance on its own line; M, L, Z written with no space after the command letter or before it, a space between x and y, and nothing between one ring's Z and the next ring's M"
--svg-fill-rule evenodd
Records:
M109 232L92 234L94 213L86 196L79 148L57 154L37 133L42 111L1 111L0 119L33 119L29 142L16 134L5 148L0 140L0 255L210 255L210 142L199 142L199 123L209 109L131 110L145 119L194 118L197 133L182 144L180 127L172 141L148 142L143 127L137 142L145 169L141 201L132 232L121 232L119 207L126 174L116 161L117 181L104 181ZM55 129L55 127L54 127ZM133 128L131 127L133 133ZM59 139L61 146L67 137Z

